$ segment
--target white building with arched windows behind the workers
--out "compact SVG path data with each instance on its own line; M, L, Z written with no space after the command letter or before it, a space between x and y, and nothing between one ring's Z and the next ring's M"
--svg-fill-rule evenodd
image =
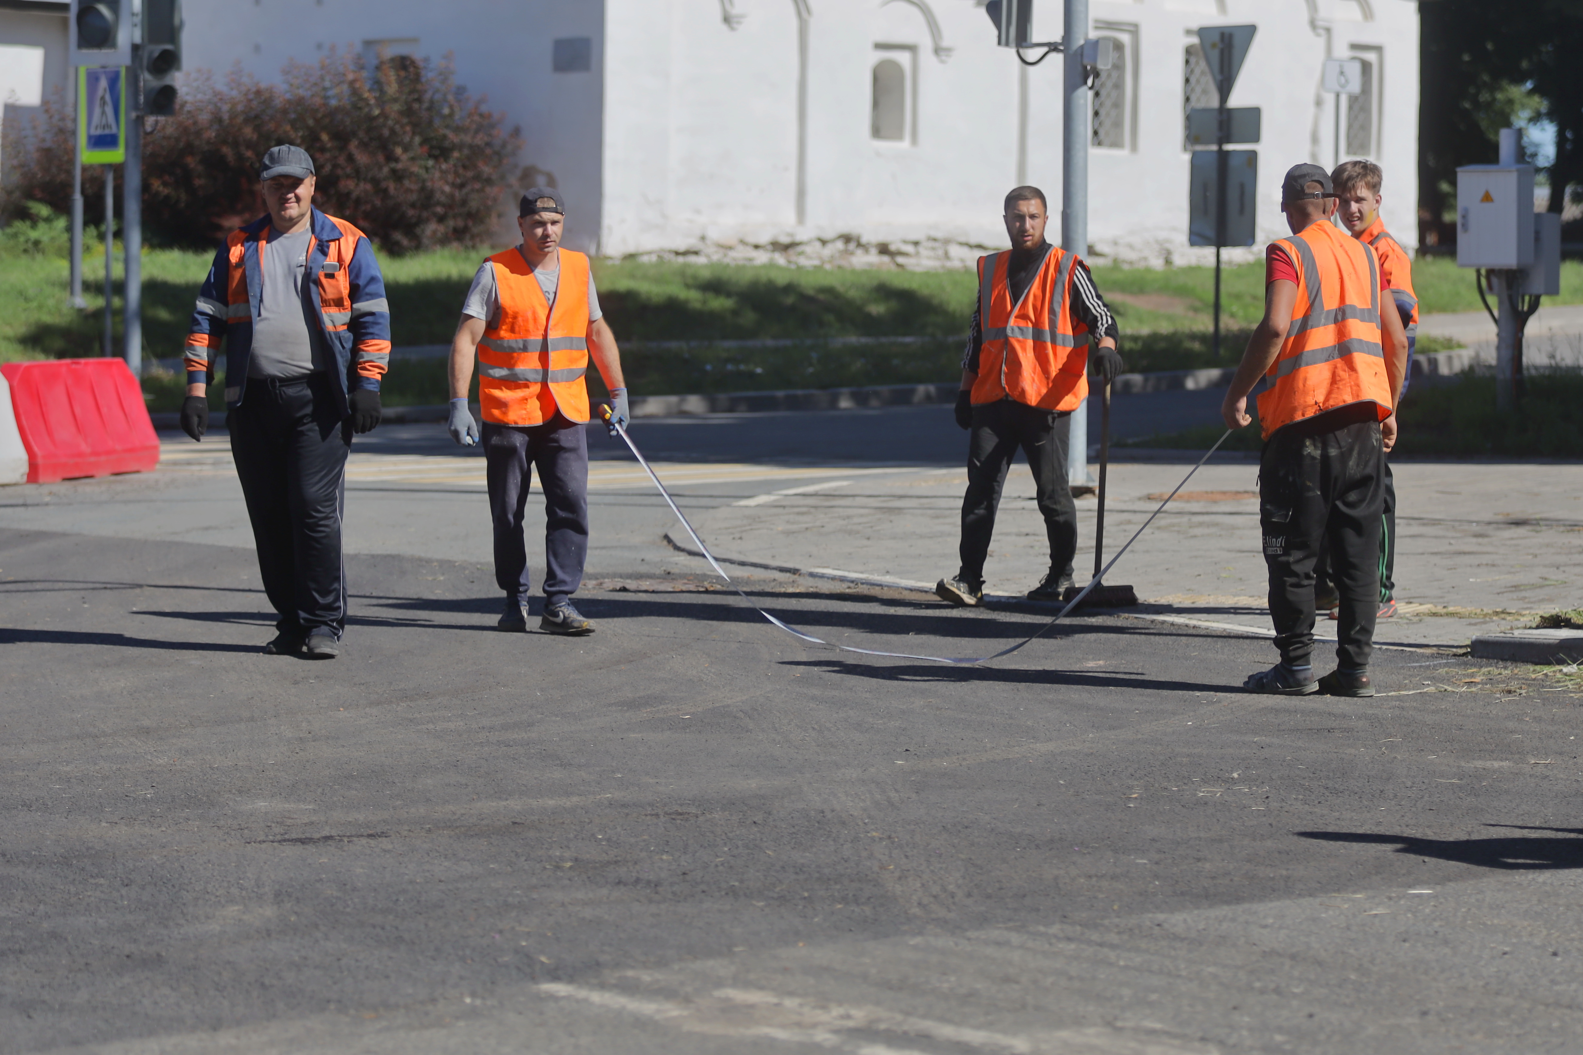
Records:
M1092 106L1094 255L1206 251L1187 248L1183 125L1187 106L1214 103L1195 30L1225 24L1258 27L1232 104L1263 108L1260 240L1285 234L1281 174L1330 166L1339 146L1385 168L1385 220L1415 245L1414 0L1091 11L1118 55ZM1057 40L1061 17L1061 0L1037 0L1035 40ZM996 47L983 0L187 0L185 19L188 70L272 79L348 46L450 55L521 127L521 183L564 191L568 244L603 255L939 266L1004 240L1013 185L1038 185L1059 212L1061 57L1024 66ZM1339 144L1327 57L1366 63Z

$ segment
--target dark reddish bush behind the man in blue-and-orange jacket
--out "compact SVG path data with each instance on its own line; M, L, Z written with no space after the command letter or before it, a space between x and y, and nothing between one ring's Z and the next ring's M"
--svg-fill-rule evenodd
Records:
M46 108L19 139L8 147L19 155L8 210L40 201L65 212L71 115ZM313 157L315 206L394 253L486 240L521 149L516 130L503 131L481 98L456 85L450 63L397 57L369 70L361 54L332 51L318 65L288 65L279 85L241 71L225 81L198 73L182 82L176 115L147 123L150 240L212 247L261 215L258 160L282 142ZM92 201L103 176L89 166L82 177Z

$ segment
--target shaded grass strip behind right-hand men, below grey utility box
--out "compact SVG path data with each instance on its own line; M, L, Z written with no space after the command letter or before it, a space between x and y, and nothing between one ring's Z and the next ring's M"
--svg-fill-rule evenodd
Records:
M1222 451L1258 451L1258 413L1254 424L1233 432ZM1583 372L1558 370L1528 378L1517 410L1502 414L1494 405L1494 378L1464 373L1445 384L1418 384L1401 406L1398 457L1583 457ZM1205 424L1159 437L1127 440L1119 446L1206 451L1225 429Z

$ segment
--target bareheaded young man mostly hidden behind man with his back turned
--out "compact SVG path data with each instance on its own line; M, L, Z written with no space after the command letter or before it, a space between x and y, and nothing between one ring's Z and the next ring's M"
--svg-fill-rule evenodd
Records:
M1418 342L1418 297L1412 291L1412 258L1407 250L1385 231L1380 220L1380 183L1384 172L1372 161L1342 161L1330 182L1336 188L1336 220L1352 237L1374 247L1380 261L1380 274L1390 286L1396 313L1407 332L1407 373L1401 381L1401 394L1407 394L1412 381L1412 353ZM1336 618L1336 590L1330 584L1330 569L1323 555L1317 569L1315 607L1328 611ZM1385 516L1380 520L1380 611L1379 618L1396 614L1396 481L1385 460Z

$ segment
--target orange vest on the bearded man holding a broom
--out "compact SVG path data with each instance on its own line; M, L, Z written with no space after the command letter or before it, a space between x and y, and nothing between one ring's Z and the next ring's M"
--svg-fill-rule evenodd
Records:
M1013 399L1040 410L1076 410L1088 397L1088 326L1072 318L1076 259L1051 245L1027 293L1012 304L1012 253L978 258L983 346L974 405Z

